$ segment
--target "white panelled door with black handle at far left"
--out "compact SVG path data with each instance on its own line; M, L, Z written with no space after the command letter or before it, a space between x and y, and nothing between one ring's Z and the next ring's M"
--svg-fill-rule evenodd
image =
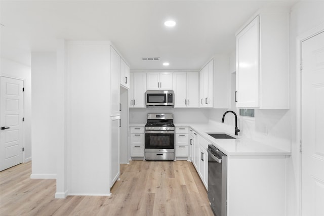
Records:
M23 162L23 81L0 77L0 171Z

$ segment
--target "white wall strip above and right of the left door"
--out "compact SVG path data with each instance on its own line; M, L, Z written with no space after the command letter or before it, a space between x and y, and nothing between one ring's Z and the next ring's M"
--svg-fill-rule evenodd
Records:
M24 140L23 162L31 160L31 68L28 65L1 58L1 76L24 80Z

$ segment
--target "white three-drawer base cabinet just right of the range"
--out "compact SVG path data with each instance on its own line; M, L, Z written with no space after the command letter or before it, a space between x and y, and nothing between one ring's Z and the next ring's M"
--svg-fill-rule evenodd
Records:
M175 130L175 155L177 160L187 160L189 153L188 127L176 127Z

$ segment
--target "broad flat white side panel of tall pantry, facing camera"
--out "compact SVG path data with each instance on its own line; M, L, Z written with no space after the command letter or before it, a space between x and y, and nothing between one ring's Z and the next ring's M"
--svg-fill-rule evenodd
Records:
M109 59L108 41L67 42L69 195L110 194Z

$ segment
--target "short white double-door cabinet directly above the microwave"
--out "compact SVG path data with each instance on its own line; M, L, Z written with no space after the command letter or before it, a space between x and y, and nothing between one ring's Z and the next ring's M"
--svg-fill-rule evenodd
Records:
M173 90L172 72L147 73L147 90Z

